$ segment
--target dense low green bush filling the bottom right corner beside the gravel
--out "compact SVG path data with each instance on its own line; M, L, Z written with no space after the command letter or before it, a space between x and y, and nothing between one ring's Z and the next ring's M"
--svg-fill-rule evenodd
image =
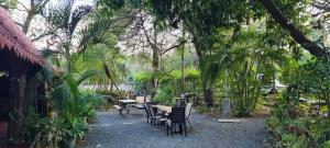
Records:
M284 102L272 109L272 115L266 119L271 133L268 143L279 148L326 147L330 138L329 121L296 116L290 113L292 109L299 112L297 107Z

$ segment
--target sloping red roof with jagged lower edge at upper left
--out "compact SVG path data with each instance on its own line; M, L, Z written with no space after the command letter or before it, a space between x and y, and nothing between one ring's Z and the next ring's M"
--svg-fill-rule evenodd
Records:
M8 48L6 48L7 46ZM14 53L33 65L45 64L42 55L36 50L33 43L20 30L8 12L0 7L0 49L14 50Z

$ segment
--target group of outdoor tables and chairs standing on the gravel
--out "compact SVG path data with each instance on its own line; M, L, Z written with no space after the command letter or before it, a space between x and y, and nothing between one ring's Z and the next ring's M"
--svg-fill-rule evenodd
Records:
M176 99L176 101L178 100ZM144 96L136 96L134 100L118 100L118 102L119 105L113 105L113 107L119 111L120 115L122 115L123 110L127 110L127 114L129 114L133 107L135 110L143 109L145 111L146 124L166 127L167 135L168 132L170 132L170 135L173 135L174 132L180 134L184 132L187 136L187 124L189 124L190 129L193 129L191 123L189 122L193 102L188 102L187 98L180 99L176 106L156 104ZM188 103L183 104L185 102ZM177 128L179 132L176 132Z

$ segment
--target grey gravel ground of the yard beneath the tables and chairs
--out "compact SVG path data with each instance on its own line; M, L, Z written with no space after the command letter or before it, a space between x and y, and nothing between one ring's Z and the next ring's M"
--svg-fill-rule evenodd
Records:
M85 146L78 148L262 148L266 137L264 118L246 123L218 123L217 118L193 113L188 136L166 136L164 126L148 126L141 111L119 115L97 113Z

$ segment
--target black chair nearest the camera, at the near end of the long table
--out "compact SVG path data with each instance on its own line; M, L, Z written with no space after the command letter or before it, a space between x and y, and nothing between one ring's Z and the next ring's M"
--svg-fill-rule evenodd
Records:
M183 134L184 128L185 136L187 136L185 107L172 107L172 113L166 122L167 136L168 132L170 132L170 136L173 136L173 130L177 125L179 126L180 134Z

